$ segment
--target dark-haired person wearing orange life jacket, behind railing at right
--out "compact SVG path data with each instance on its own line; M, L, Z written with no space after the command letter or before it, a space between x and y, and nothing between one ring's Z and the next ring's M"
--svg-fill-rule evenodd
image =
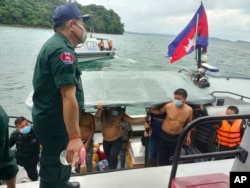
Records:
M227 107L226 114L238 114L236 106ZM222 120L217 126L217 143L219 151L235 150L240 145L245 130L242 119Z

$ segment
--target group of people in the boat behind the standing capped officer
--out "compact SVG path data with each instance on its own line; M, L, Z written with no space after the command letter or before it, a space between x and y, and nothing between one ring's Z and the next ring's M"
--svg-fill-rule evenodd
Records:
M144 124L145 131L142 138L144 138L143 144L146 148L145 167L170 165L171 160L169 159L173 156L178 135L183 126L196 118L208 115L205 105L188 105L186 98L186 91L177 89L173 102L146 108L146 116L137 118L128 116L120 106L103 107L102 103L97 104L95 115L83 110L79 127L87 152L86 163L84 166L79 165L75 171L72 171L72 175L92 173L97 170L115 170L118 168L119 161L121 163L119 168L125 168L132 134L128 135L129 128L124 127L124 123L126 126ZM228 106L225 113L238 114L239 109L236 106ZM179 120L179 117L185 118ZM172 134L164 132L164 128L168 131L169 121L172 121L171 131L174 131ZM102 143L94 141L98 122L101 123ZM22 116L18 117L15 120L16 130L11 133L9 142L10 147L16 145L14 156L17 164L25 168L31 181L36 181L38 179L39 153L42 146L39 145L31 123ZM168 126L164 127L164 123L167 123ZM242 119L204 123L189 133L186 144L193 145L200 153L234 150L240 144L245 124L246 122ZM124 129L125 132L127 131L126 135L124 135ZM131 127L130 131L132 131ZM100 151L101 145L103 146L102 151Z

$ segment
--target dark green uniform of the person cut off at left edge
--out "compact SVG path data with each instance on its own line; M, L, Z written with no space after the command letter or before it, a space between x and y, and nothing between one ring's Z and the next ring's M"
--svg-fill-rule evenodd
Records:
M0 106L0 179L10 180L18 172L15 158L9 146L9 118Z

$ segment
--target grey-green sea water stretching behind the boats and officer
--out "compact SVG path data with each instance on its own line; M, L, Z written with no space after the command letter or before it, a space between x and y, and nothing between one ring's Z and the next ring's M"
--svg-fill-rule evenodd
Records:
M32 90L36 56L52 35L50 29L0 26L0 105L9 116L31 119L24 101ZM140 34L94 34L94 37L111 39L116 55L112 60L81 64L83 71L168 71L196 67L194 53L169 63L165 54L173 37ZM216 75L250 77L249 49L249 43L210 40L208 63L220 69Z

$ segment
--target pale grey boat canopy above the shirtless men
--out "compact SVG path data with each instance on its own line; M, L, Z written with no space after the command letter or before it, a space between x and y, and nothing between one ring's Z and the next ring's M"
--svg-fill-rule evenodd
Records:
M171 102L178 88L188 92L189 104L208 104L215 97L183 73L164 71L83 71L85 108L104 106L150 107Z

